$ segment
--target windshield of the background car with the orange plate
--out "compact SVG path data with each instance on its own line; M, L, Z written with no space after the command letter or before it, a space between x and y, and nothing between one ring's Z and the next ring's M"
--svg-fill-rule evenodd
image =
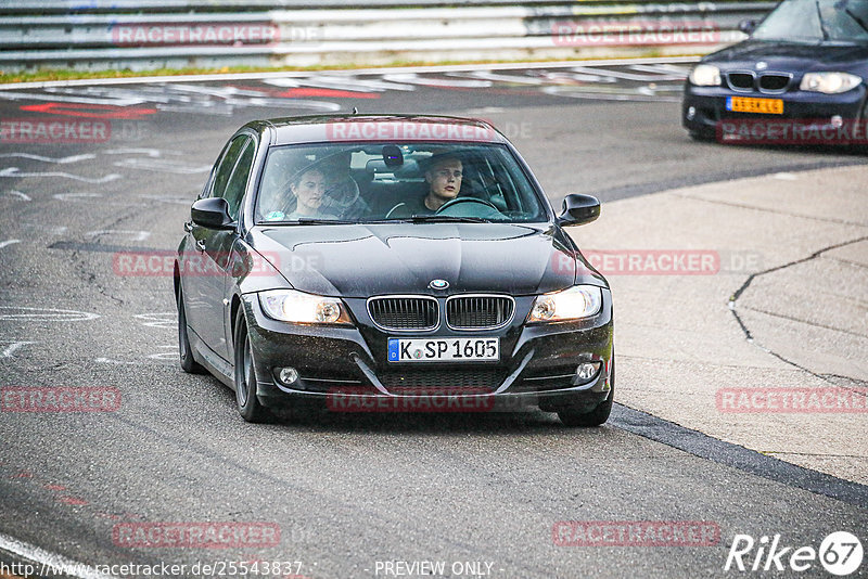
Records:
M784 0L752 38L793 42L868 42L868 0Z

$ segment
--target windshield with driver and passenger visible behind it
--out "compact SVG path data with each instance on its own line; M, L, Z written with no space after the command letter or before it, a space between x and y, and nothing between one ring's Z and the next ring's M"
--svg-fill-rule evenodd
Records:
M257 223L546 219L510 151L478 143L275 146L256 203Z

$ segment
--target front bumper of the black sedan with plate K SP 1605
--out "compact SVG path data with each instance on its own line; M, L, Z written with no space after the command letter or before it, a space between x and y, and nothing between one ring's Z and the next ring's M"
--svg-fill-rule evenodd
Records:
M612 296L603 288L597 316L580 322L524 325L533 297L515 298L515 319L503 329L396 335L376 329L365 300L347 299L355 326L311 326L272 320L255 294L243 296L257 374L257 397L269 407L299 399L335 411L480 411L539 407L586 407L609 397L612 362ZM499 362L394 363L390 337L498 337ZM576 376L583 362L599 371ZM299 378L282 384L278 369L292 366Z

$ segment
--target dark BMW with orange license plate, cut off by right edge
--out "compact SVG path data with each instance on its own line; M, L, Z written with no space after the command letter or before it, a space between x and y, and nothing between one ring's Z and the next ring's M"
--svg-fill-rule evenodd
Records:
M799 129L812 127L830 143L835 137L868 142L860 126L868 103L868 0L783 0L758 25L741 27L748 40L690 72L681 123L691 137L799 143L810 137ZM744 127L746 134L739 134Z

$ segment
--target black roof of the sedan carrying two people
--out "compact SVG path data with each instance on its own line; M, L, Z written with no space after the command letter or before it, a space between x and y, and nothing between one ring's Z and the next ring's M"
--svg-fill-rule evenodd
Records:
M272 144L365 141L472 141L506 143L485 120L436 115L317 115L255 120L246 125L270 130Z

